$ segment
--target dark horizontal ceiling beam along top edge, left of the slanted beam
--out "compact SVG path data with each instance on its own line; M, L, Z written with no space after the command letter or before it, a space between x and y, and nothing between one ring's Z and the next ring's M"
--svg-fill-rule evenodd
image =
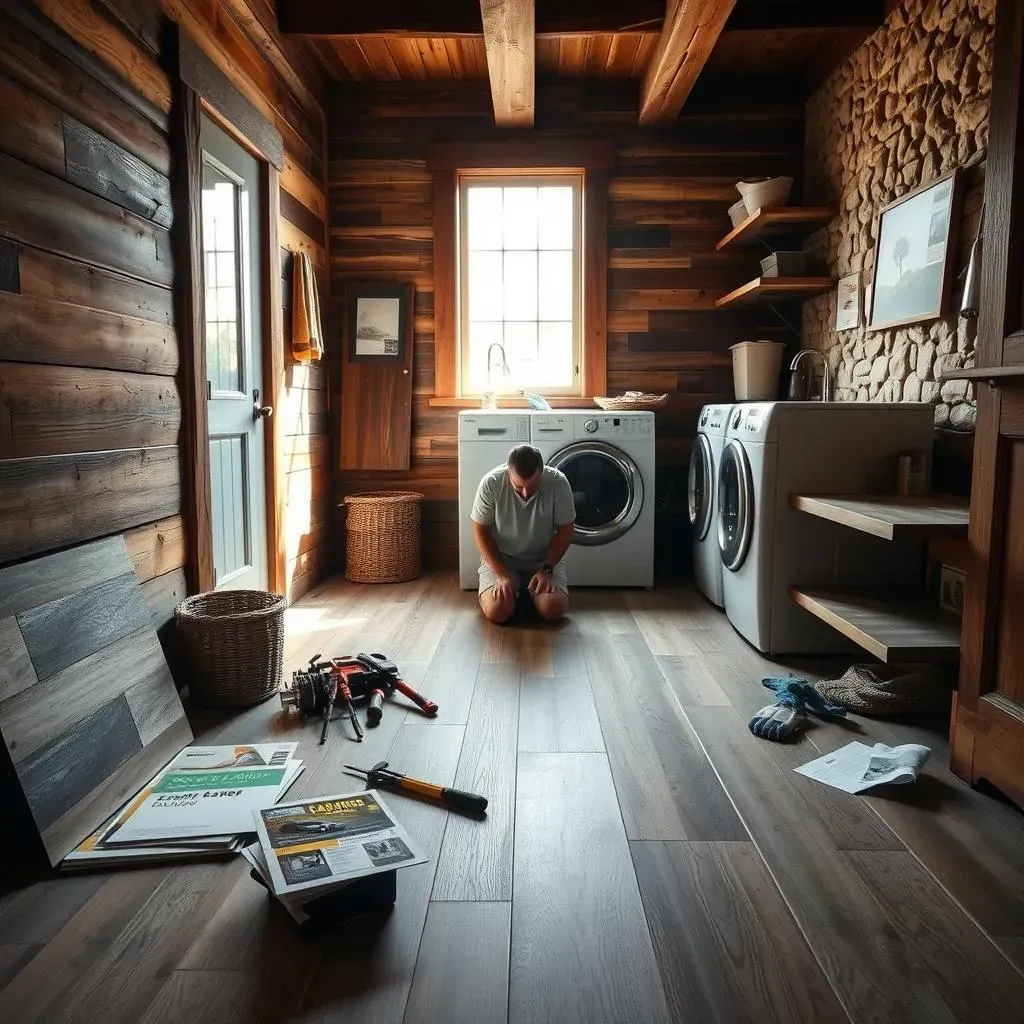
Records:
M538 36L657 32L665 0L539 0ZM302 36L479 36L478 0L278 0L281 32Z

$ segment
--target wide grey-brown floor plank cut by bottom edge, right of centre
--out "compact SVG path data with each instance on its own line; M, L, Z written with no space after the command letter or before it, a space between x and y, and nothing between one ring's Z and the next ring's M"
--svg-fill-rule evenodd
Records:
M753 843L631 843L673 1019L846 1020Z

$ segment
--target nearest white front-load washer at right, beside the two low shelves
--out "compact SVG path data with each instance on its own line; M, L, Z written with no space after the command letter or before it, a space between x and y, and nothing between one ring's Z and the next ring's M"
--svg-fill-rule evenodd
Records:
M790 586L916 583L919 542L884 541L791 505L794 494L895 489L904 450L931 459L934 411L922 402L752 402L729 417L718 479L725 610L769 653L859 650L799 607Z

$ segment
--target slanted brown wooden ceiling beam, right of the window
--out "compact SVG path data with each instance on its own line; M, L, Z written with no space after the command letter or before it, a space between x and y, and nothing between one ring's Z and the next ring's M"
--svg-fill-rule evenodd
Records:
M665 25L640 83L640 124L674 121L736 0L668 0Z

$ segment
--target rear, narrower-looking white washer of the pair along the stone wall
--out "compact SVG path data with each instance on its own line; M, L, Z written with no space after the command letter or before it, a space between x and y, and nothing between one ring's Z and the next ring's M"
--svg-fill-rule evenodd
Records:
M713 604L722 607L722 555L718 550L718 467L732 406L705 406L690 453L687 508L693 530L693 579Z

